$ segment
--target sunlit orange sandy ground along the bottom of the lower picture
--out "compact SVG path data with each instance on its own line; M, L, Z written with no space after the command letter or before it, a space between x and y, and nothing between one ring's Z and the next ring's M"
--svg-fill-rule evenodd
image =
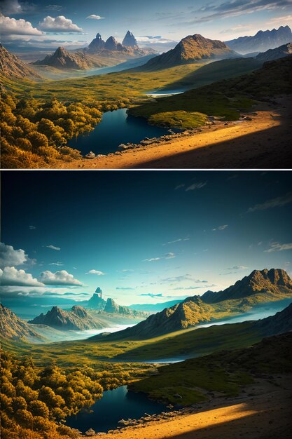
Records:
M104 439L284 439L292 431L290 376L257 379L236 398L213 398L170 420L153 420ZM95 436L95 438L99 435Z

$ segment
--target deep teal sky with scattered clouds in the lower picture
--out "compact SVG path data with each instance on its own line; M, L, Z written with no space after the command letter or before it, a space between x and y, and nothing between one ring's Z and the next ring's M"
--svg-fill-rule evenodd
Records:
M3 171L2 299L160 303L292 274L288 172Z

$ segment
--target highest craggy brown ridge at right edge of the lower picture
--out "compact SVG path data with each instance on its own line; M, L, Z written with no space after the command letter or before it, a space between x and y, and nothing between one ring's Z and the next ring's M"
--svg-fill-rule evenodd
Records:
M212 292L207 291L202 295L202 300L208 304L222 302L230 299L243 299L261 292L270 295L292 295L292 281L286 271L281 269L254 270L249 276L245 276L235 285L226 290Z

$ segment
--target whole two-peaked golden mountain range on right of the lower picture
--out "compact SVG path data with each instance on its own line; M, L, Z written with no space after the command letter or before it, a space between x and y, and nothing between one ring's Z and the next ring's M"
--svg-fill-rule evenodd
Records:
M254 270L235 285L219 292L205 292L202 297L187 297L183 302L165 308L133 327L108 335L106 339L149 339L169 332L194 327L199 323L215 321L223 314L244 313L252 306L292 297L292 281L281 269ZM92 337L99 339L101 336Z

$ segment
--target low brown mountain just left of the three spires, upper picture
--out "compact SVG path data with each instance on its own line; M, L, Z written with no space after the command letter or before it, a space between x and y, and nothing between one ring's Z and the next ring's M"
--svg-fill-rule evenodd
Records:
M94 67L104 67L106 63L82 51L69 52L64 47L58 47L53 55L47 55L43 60L38 60L34 65L48 65L55 69L87 70Z

